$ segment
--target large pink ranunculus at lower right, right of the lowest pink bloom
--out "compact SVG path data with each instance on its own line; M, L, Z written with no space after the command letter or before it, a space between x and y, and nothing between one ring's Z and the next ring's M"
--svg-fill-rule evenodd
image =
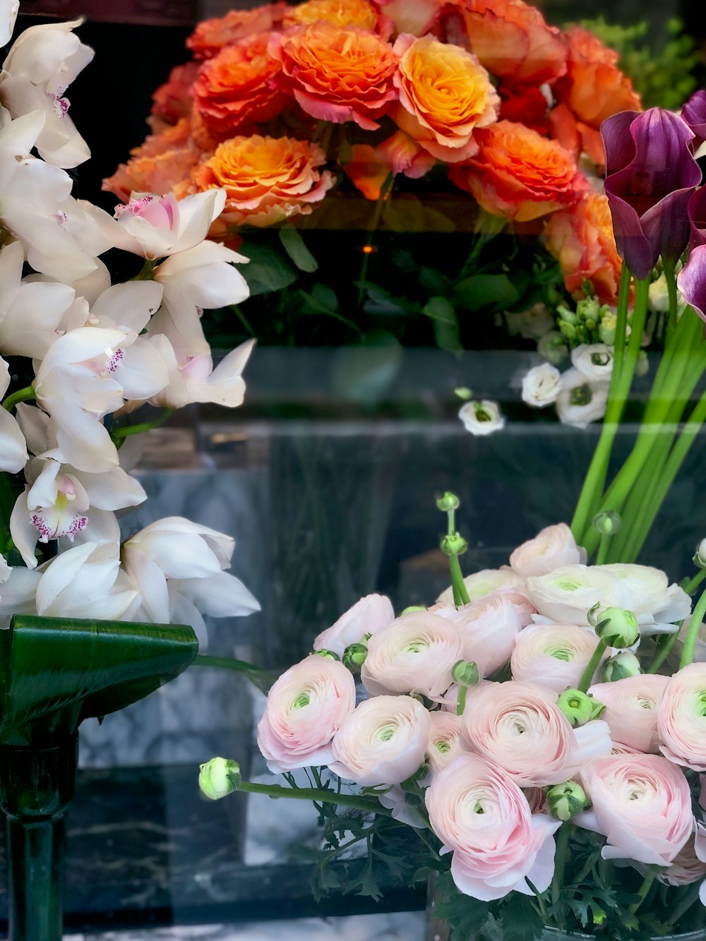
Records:
M591 809L574 822L606 837L604 859L668 866L694 829L682 769L661 755L611 755L581 769Z

